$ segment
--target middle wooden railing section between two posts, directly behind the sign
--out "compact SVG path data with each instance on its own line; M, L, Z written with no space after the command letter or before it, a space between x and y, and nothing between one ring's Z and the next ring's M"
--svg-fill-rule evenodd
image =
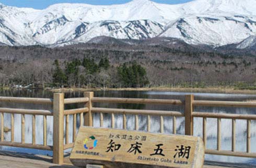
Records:
M91 102L108 102L118 104L157 104L157 105L182 105L181 100L171 99L137 99L137 98L106 98L106 97L90 97ZM152 115L160 116L160 133L164 133L164 117L172 116L173 125L172 133L176 134L176 117L184 117L184 114L178 111L159 111L159 110L131 110L131 109L112 109L112 108L91 108L91 112L100 113L100 126L103 126L103 113L111 114L111 127L114 128L115 114L123 115L123 129L126 129L126 114L135 115L135 130L138 130L138 115L147 115L147 131L150 132L150 117ZM91 125L92 126L92 125Z

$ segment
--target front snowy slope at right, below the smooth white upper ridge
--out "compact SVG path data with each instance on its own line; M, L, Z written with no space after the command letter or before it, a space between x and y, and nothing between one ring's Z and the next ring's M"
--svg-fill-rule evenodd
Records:
M194 15L171 22L160 36L189 44L226 45L256 35L256 17Z

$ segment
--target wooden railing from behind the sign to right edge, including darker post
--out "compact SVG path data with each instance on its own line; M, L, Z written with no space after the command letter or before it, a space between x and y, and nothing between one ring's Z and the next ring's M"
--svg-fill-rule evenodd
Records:
M108 102L108 103L124 103L124 104L157 104L157 105L184 105L184 113L178 111L157 111L157 110L131 110L131 109L111 109L111 108L95 108L92 107L90 111L92 113L100 113L100 126L103 126L103 113L111 114L111 127L114 128L115 114L123 114L123 129L126 129L126 114L135 115L135 130L138 130L138 115L147 115L147 131L150 131L150 116L160 116L160 133L164 133L164 117L173 117L173 130L172 133L176 134L176 117L184 117L185 120L185 135L193 135L193 119L203 118L203 140L206 146L206 124L207 118L217 119L217 149L206 149L208 154L218 154L224 156L236 156L236 157L252 157L256 158L256 153L251 152L251 120L256 120L254 114L224 114L224 113L212 113L212 112L195 112L193 108L195 106L212 106L212 107L253 107L256 108L255 102L242 102L242 101L205 101L194 100L193 95L186 95L185 102L181 100L170 99L134 99L134 98L106 98L106 97L90 97L91 102ZM221 150L221 119L232 120L232 141L231 151ZM247 120L247 151L236 151L236 120ZM93 126L93 125L90 125Z

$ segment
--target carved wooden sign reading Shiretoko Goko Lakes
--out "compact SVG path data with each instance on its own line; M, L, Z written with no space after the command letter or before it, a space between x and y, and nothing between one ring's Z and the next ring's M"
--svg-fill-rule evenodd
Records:
M79 167L203 167L200 137L80 127L70 156Z

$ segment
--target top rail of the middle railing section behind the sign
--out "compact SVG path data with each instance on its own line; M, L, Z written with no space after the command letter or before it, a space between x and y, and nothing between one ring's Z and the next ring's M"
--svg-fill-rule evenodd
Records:
M112 98L112 97L93 97L92 102L112 102L122 104L163 104L163 105L182 105L181 100L174 99L142 99L142 98Z

